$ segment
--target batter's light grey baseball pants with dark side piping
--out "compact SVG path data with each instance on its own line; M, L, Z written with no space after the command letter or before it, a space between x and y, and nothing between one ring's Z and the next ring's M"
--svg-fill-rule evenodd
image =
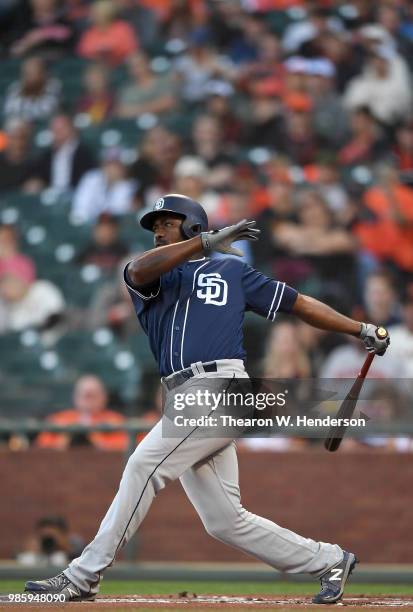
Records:
M242 361L218 363L218 373L194 377L199 387L207 388L208 378L247 376ZM194 378L179 391L193 386ZM129 458L98 533L65 570L67 577L82 591L97 592L102 572L136 532L158 491L177 478L210 535L277 570L317 578L342 560L339 546L304 538L242 507L232 439L194 437L191 432L164 438L161 420Z

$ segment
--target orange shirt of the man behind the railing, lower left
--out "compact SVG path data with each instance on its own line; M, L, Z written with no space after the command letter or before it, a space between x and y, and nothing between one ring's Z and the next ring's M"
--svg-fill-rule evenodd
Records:
M91 425L118 425L125 423L125 417L113 410L102 410L95 415L90 415L88 424ZM64 410L51 414L47 421L55 425L85 425L84 419L78 410ZM70 434L69 434L70 435ZM100 432L94 431L87 434L90 444L101 450L125 450L128 445L128 435L125 431ZM66 434L43 432L36 439L36 446L40 448L54 448L56 450L66 448Z

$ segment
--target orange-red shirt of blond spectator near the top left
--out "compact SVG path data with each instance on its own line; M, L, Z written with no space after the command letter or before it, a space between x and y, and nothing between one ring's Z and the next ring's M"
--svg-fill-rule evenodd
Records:
M117 66L138 48L138 41L126 21L114 21L107 28L92 26L83 34L78 46L82 57L105 60Z

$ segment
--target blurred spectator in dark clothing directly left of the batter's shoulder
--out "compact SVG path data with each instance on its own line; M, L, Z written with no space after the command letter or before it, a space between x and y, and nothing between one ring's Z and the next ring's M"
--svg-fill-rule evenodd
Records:
M93 227L92 240L76 258L82 265L94 264L106 272L116 269L128 253L119 236L119 220L108 213L99 215Z

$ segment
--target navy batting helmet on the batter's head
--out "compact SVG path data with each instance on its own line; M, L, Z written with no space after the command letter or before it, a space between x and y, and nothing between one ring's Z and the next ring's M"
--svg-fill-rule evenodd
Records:
M143 228L152 232L154 221L159 213L168 212L183 217L182 233L186 238L193 238L208 229L208 217L202 206L179 193L169 193L156 200L153 210L146 213L140 223Z

